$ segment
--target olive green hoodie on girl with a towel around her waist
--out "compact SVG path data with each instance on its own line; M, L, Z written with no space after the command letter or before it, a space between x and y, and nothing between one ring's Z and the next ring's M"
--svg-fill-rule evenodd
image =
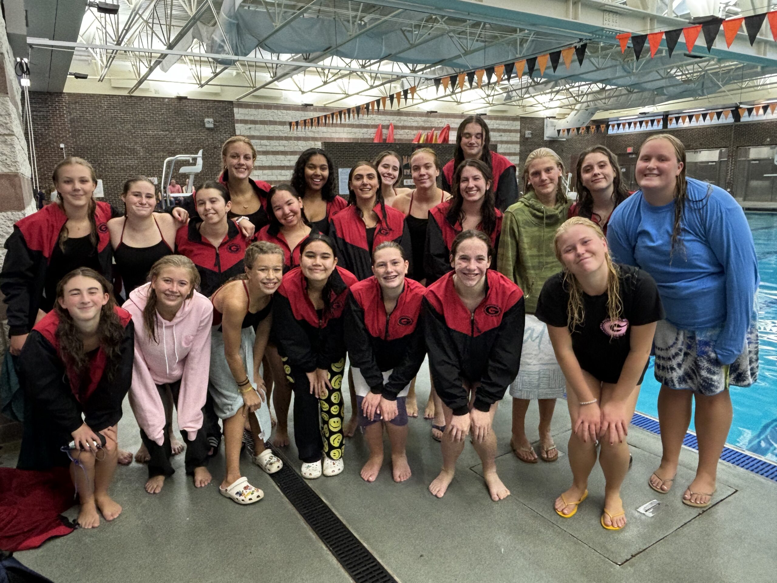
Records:
M497 270L523 290L526 313L537 309L537 299L545 280L561 271L553 248L556 229L566 221L570 201L549 208L534 190L504 211Z

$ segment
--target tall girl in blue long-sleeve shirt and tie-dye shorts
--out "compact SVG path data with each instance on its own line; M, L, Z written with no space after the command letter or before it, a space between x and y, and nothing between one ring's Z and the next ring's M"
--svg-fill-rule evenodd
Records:
M618 263L653 276L667 314L654 339L664 453L649 484L670 490L694 398L699 466L682 501L704 508L731 426L728 387L758 376L753 237L730 194L685 177L685 147L674 136L643 142L636 180L640 190L612 213L608 243Z

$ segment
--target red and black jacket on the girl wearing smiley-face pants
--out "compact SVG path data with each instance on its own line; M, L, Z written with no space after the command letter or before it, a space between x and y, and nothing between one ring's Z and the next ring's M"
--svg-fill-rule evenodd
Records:
M357 279L350 271L335 267L329 275L329 309L319 317L308 298L308 282L299 267L284 275L273 299L273 332L280 354L302 372L329 368L346 354L343 340L343 309L348 288Z

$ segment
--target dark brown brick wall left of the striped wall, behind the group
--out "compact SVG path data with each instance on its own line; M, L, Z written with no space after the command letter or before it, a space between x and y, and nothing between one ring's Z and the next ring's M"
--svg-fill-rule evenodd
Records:
M221 171L221 144L235 134L232 102L206 99L30 93L41 187L65 153L89 160L103 180L106 200L117 204L124 180L135 174L162 178L165 159L203 150L196 181ZM204 119L214 127L207 129ZM181 166L179 164L178 166ZM188 176L174 174L186 180Z

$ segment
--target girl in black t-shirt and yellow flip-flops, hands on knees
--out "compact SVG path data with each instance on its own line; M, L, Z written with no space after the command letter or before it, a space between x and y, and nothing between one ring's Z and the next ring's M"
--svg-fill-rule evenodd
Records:
M612 263L594 222L570 218L556 231L554 243L564 269L542 286L536 316L548 326L572 418L573 482L556 498L556 513L570 518L586 499L598 439L606 480L600 522L619 530L626 523L620 497L629 470L625 436L664 309L649 274Z

